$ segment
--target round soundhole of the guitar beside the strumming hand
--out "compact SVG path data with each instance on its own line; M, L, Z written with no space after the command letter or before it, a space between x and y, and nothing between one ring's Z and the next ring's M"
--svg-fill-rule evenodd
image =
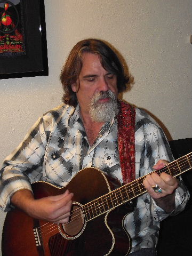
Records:
M78 205L78 203L73 203L69 222L60 225L60 234L68 239L76 238L84 230L84 223L85 218L82 206Z

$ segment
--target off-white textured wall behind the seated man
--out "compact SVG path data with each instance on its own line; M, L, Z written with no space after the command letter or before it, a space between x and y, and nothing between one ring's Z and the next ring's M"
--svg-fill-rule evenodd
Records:
M125 100L156 116L169 138L191 137L191 10L191 0L45 0L50 75L0 80L0 162L39 115L61 103L61 66L86 37L123 54L135 78Z

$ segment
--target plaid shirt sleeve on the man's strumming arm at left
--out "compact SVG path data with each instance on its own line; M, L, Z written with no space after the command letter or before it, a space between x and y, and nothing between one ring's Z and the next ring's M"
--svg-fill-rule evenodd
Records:
M3 163L0 171L0 207L3 211L11 209L10 198L16 191L31 190L30 183L41 179L45 147L46 132L43 118L39 118Z

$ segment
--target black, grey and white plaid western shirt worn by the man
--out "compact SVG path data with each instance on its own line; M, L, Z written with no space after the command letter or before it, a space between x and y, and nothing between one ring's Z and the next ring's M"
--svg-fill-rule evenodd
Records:
M159 159L173 161L162 129L145 111L136 108L135 177L153 171ZM8 156L1 170L0 206L11 207L10 197L17 190L31 190L30 183L39 180L66 186L85 167L97 167L123 183L119 163L117 120L102 126L93 146L86 137L79 106L61 105L39 118L20 145ZM73 191L72 191L73 192ZM87 191L89 193L89 191ZM175 210L183 210L188 192L180 182L175 191ZM132 252L154 247L158 239L159 221L168 214L145 193L133 201L134 211L127 214L124 226L132 237Z

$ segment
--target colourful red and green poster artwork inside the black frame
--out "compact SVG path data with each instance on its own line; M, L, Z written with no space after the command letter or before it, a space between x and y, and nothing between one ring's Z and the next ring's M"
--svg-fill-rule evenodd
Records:
M26 54L22 0L0 1L0 56Z

